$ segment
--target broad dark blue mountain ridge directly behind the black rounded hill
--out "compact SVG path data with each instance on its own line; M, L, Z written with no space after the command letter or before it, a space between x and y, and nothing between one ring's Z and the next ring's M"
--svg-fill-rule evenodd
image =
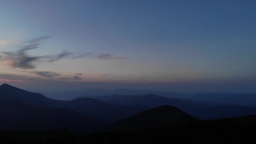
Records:
M157 96L154 94L147 95L109 95L109 96L91 96L95 99L110 103L110 104L120 104L130 107L137 107L140 109L152 109L155 107L163 105L171 105L181 109L184 112L189 113L189 115L194 115L198 110L204 107L210 106L209 104L204 104L203 102L192 101L188 99L179 98L167 98L163 96Z

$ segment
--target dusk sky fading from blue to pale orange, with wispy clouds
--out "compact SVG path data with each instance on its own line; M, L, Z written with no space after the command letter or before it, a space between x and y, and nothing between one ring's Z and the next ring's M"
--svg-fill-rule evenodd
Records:
M255 0L0 3L0 84L256 92Z

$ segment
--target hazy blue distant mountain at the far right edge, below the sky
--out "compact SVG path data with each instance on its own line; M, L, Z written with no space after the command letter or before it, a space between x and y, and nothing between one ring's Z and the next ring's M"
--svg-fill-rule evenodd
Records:
M225 105L256 107L256 93L201 93L189 97L195 101L211 101Z

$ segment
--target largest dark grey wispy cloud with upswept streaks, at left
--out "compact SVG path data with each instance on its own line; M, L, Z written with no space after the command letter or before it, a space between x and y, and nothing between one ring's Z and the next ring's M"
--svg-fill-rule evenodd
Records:
M21 47L18 51L5 51L2 52L3 55L0 55L0 61L3 65L7 65L13 68L19 69L35 69L36 62L54 62L59 61L60 59L78 59L88 56L89 53L82 53L75 55L73 53L62 51L56 56L29 56L27 51L37 49L40 47L40 42L42 40L48 39L50 36L38 37L32 40L29 40L25 45Z

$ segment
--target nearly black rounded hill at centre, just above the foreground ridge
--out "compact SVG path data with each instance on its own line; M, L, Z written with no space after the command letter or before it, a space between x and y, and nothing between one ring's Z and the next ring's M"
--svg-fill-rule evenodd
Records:
M182 112L173 106L160 106L139 112L130 117L118 120L104 128L105 131L125 131L137 128L149 127L165 123L178 123L197 121L195 117Z

